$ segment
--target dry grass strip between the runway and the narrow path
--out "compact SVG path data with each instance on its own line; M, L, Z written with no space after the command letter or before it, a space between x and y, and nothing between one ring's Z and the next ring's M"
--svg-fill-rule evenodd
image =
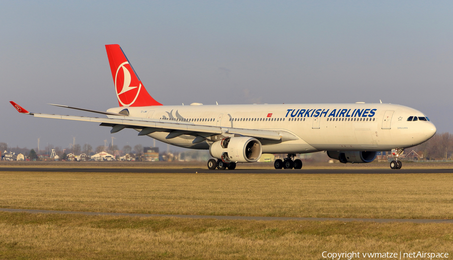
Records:
M155 214L453 218L453 176L0 172L0 207Z

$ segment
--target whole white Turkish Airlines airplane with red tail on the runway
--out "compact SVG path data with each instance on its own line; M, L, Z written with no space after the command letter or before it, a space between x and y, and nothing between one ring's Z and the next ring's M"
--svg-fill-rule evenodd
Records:
M171 145L209 150L209 169L234 169L256 162L263 153L287 154L276 169L300 169L296 154L327 151L342 163L368 163L378 151L392 150L392 169L400 169L405 148L427 141L436 127L422 112L394 104L253 104L164 106L148 94L118 44L105 45L118 107L106 112L49 104L103 114L106 118L19 113L39 118L100 123L110 133L125 128Z

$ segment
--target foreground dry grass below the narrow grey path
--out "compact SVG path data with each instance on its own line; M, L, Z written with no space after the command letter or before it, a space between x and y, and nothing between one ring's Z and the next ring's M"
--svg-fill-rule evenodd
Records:
M0 258L322 259L323 251L425 251L448 252L451 256L452 230L453 224L0 212Z

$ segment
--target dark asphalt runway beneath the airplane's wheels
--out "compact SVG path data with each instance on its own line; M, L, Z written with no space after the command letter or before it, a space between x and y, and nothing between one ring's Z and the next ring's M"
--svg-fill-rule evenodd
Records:
M0 167L0 171L25 172L135 172L168 174L453 174L453 169L234 169L204 168L25 168Z

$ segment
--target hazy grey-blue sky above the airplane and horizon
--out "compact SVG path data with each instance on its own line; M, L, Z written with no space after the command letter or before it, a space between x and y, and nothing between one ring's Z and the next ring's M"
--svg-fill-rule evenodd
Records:
M117 107L105 44L121 45L164 105L382 100L453 133L451 14L451 1L0 1L0 142L152 146L132 129L9 103Z

